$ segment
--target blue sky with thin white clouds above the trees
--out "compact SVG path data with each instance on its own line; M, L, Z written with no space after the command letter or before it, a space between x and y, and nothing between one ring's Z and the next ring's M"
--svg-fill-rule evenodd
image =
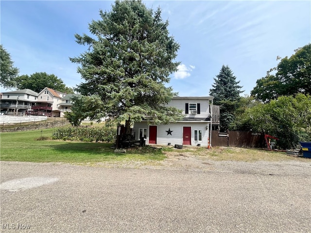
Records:
M47 72L69 87L83 82L69 57L86 48L74 34L89 34L88 23L114 1L1 0L0 43L19 75ZM146 0L162 9L169 32L180 44L179 71L168 85L179 96L208 96L222 65L228 65L249 95L256 81L311 43L311 1ZM1 88L3 91L3 88Z

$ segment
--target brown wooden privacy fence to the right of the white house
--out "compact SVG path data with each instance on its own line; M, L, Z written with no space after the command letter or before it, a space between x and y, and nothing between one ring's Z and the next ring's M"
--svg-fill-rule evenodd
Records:
M264 135L261 133L227 131L226 133L212 131L212 147L242 147L265 148Z

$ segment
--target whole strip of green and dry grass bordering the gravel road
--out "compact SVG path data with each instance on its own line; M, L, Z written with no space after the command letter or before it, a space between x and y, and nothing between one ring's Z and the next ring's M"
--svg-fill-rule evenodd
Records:
M159 165L166 158L186 156L199 160L215 161L286 161L299 160L311 162L310 159L288 156L284 152L267 150L221 148L213 147L184 147L182 150L164 147L129 149L126 153L114 153L111 144L51 140L54 129L0 133L0 160L22 162L63 162L73 164L93 165L105 162L142 162ZM41 137L42 136L42 137ZM47 140L39 140L39 139ZM177 158L176 157L176 158Z

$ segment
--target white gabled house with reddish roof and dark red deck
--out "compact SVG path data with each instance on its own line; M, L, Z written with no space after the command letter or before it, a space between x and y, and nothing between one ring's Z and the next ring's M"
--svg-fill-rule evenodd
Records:
M61 99L65 96L66 93L45 87L38 93L38 99L28 114L35 116L60 116L58 104L62 102Z

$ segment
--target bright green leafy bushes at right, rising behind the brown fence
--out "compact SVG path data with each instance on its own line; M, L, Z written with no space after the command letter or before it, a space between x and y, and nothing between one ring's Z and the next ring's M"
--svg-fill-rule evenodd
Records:
M276 136L280 139L277 145L283 149L311 141L311 96L281 96L269 103L257 103L245 108L232 128Z

